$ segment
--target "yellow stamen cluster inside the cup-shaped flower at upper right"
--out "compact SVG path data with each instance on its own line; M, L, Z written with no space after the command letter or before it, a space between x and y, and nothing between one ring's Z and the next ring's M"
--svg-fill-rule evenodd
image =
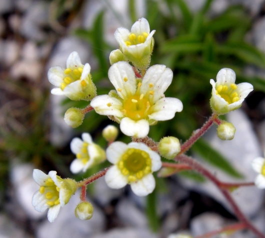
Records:
M228 104L239 100L238 93L236 92L237 86L234 83L230 85L219 85L215 87L217 96L223 98Z

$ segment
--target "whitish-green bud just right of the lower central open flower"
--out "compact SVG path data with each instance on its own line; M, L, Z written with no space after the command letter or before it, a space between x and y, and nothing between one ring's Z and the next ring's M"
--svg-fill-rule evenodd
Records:
M159 152L168 159L173 159L180 152L179 139L173 136L163 137L158 145Z

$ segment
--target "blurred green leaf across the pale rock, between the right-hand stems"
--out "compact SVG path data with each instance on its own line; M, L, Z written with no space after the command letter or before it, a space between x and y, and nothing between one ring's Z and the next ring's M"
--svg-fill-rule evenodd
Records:
M235 168L230 164L230 162L212 148L205 140L202 138L198 139L191 149L199 154L206 162L214 165L215 167L221 169L225 173L233 176L242 178L242 175L235 170Z

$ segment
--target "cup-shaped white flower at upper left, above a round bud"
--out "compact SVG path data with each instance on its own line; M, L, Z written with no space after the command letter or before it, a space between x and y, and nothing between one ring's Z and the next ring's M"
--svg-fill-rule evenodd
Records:
M91 100L96 95L90 65L81 64L80 57L75 51L67 58L66 69L55 66L48 70L48 80L57 86L51 90L52 94L65 95L71 100Z

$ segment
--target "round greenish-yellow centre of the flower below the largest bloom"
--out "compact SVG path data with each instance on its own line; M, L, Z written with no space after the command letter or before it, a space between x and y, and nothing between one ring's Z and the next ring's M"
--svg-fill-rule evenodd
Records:
M128 182L134 182L151 172L151 163L147 152L137 148L128 148L117 165L121 173L127 176Z

